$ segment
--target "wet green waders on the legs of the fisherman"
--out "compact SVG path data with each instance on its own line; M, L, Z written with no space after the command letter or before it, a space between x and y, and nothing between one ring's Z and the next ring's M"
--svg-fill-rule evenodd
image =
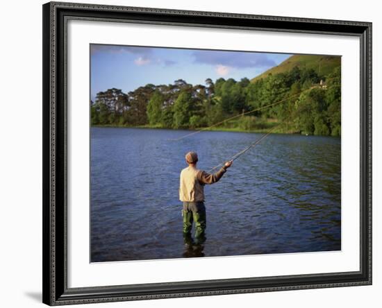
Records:
M183 234L190 234L195 223L195 240L203 241L206 231L206 207L203 201L183 202Z

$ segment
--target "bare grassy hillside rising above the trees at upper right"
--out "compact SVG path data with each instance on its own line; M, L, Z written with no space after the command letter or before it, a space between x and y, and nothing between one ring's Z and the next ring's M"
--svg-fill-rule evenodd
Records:
M260 74L251 80L254 83L260 78L265 78L269 74L279 74L290 71L293 67L306 69L314 69L319 76L330 74L335 67L341 65L340 56L331 55L292 55L287 60L281 62L276 67L268 69L263 74Z

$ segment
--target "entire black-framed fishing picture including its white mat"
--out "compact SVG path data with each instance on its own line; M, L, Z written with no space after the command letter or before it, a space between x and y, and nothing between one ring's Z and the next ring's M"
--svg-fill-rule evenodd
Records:
M372 24L50 2L43 302L372 284Z

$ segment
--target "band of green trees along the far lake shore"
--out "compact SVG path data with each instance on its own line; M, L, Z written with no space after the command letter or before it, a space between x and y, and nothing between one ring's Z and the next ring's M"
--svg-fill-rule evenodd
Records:
M113 88L97 93L91 101L91 122L93 126L194 129L284 100L227 125L256 130L266 123L282 122L291 132L338 136L340 76L340 67L327 76L294 67L254 83L248 78L219 78L215 83L208 78L205 85L191 85L178 79L169 85L147 84L127 94Z

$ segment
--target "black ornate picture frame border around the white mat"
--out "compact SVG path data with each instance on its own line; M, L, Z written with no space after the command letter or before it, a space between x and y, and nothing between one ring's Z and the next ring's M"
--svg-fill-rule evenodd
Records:
M47 305L372 284L372 23L50 2L42 6L42 301ZM360 40L360 271L192 282L67 287L68 19L353 35Z

